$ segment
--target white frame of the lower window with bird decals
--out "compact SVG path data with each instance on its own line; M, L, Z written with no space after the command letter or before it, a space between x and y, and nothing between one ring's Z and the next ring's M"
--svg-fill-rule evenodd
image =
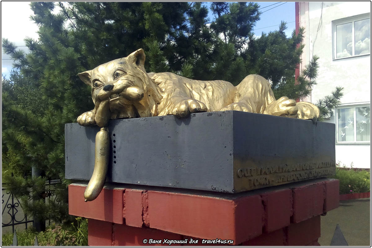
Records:
M347 57L349 58L349 57ZM338 107L334 109L334 118L335 118L335 125L336 125L336 145L356 145L356 144L371 144L371 141L356 141L356 125L354 124L354 141L339 141L339 109L354 109L354 123L356 123L356 108L357 107L369 107L371 109L371 103L363 102L363 103L355 103L355 104L340 104ZM371 131L370 131L371 133ZM370 135L371 138L371 135Z

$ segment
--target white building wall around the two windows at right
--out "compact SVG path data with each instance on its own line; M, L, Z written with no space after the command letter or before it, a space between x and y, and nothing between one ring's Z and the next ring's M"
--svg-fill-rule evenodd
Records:
M371 103L371 55L333 59L332 21L371 12L371 2L299 2L300 26L305 28L304 52L300 71L312 55L319 58L317 85L310 97L316 103L337 87L344 87L341 104ZM334 117L327 122L335 123ZM335 135L336 137L336 135ZM336 162L355 168L371 167L371 143L336 144Z

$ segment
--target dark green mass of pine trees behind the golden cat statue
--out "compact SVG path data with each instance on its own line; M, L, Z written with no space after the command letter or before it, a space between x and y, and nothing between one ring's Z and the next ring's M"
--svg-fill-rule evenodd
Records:
M70 181L64 180L64 125L76 122L81 113L92 109L90 89L78 78L80 72L143 48L147 72L170 71L234 85L248 74L260 74L270 81L276 97L305 97L315 84L317 57L295 85L304 29L287 38L282 23L278 31L256 38L252 30L260 18L257 3L217 2L211 9L200 2L57 5L30 4L39 39L25 39L29 54L3 39L3 50L12 56L19 70L19 78L11 80L28 86L21 83L25 80L32 86L31 91L19 93L29 97L23 100L11 95L16 92L11 87L3 94L3 148L9 162L28 166L16 173L35 167L45 174L26 179L17 174L4 180L13 193L25 195L23 206L33 215L60 222L70 218L66 193ZM52 13L55 7L60 9L58 14ZM212 20L209 11L214 14ZM29 107L25 107L27 104ZM45 190L47 177L61 178L62 187L56 195L62 205L27 201L28 196L36 199L37 193Z

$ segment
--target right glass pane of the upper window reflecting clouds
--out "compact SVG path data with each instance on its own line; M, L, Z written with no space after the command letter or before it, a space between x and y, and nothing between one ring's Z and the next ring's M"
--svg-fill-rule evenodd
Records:
M354 22L355 55L369 54L371 52L371 25L370 19Z

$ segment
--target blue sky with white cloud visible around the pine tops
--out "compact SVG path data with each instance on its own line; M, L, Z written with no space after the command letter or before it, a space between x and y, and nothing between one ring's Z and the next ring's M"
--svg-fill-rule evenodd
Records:
M278 30L282 20L288 23L286 35L291 35L295 29L295 2L266 1L257 3L260 5L260 11L264 13L260 16L261 20L256 23L253 31L256 36L260 36L262 32L268 33ZM26 36L38 38L36 34L38 27L29 19L29 16L33 14L29 4L30 2L27 1L1 2L1 38L7 38L15 45L20 46L20 49L25 50L27 48L22 46L25 45L23 39ZM205 4L210 6L210 2ZM9 55L4 54L1 50L1 74L8 76L9 71L12 70L12 63L13 61L9 60Z

